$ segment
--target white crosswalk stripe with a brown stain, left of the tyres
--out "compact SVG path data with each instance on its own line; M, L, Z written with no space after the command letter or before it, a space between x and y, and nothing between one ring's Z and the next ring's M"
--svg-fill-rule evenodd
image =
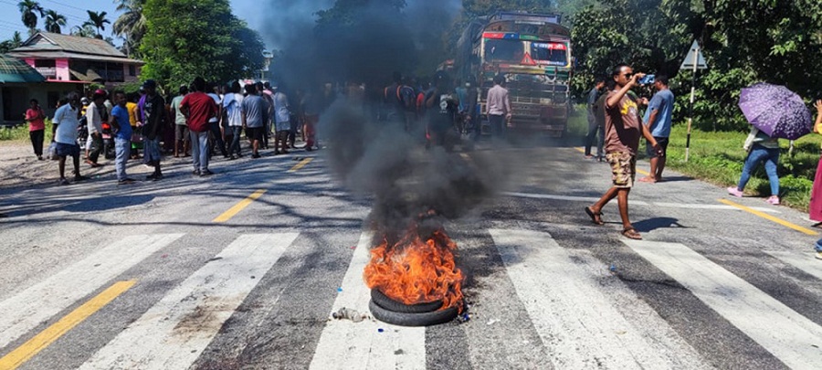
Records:
M187 368L297 236L240 236L80 368Z

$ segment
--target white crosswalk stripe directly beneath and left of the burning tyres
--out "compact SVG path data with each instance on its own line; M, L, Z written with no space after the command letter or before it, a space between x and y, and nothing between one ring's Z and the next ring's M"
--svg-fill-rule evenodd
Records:
M372 234L364 233L342 280L332 312L349 308L368 312L371 294L363 270L371 258ZM380 329L383 331L380 332ZM311 360L311 369L425 369L426 330L365 320L328 322Z

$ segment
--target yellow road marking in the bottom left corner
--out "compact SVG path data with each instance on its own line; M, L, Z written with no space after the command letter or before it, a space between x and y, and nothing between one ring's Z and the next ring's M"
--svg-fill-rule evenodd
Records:
M136 280L118 281L111 285L109 289L100 292L97 296L83 303L74 311L68 313L60 321L51 324L44 331L35 335L25 344L17 347L14 351L0 358L0 369L13 370L18 366L23 365L26 361L34 357L38 352L46 349L46 347L68 333L69 330L77 326L80 322L88 319L94 312L100 311L106 304L114 301L123 292L131 289Z

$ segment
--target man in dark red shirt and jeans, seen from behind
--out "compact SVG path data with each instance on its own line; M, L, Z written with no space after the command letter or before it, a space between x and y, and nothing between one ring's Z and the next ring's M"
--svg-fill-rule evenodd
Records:
M205 94L205 79L198 77L192 82L194 92L185 95L180 111L188 120L191 132L191 157L194 173L200 176L214 174L208 170L208 120L217 116L214 99Z

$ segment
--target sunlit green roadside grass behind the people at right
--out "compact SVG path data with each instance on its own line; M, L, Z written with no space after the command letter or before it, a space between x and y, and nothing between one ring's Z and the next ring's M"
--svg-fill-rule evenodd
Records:
M587 131L585 110L577 108L574 113L568 122L569 140L582 143L580 139L585 137ZM714 185L736 185L747 157L743 150L747 132L704 132L694 129L690 135L689 160L685 162L687 133L684 122L671 128L666 167ZM639 157L645 158L645 140L642 142ZM806 135L794 142L793 151L789 151L790 142L787 140L780 140L780 145L778 174L781 202L784 206L806 212L817 173L822 135ZM770 196L770 189L764 166L760 164L745 186L745 194L763 196L764 201L764 197Z

